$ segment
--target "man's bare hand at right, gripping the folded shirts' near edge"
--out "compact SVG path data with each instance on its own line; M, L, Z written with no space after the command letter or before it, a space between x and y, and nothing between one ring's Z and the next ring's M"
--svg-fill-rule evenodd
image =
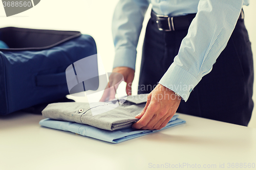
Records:
M147 96L146 106L143 111L135 116L140 120L133 124L135 129L162 129L176 113L181 98L175 93L158 84Z

